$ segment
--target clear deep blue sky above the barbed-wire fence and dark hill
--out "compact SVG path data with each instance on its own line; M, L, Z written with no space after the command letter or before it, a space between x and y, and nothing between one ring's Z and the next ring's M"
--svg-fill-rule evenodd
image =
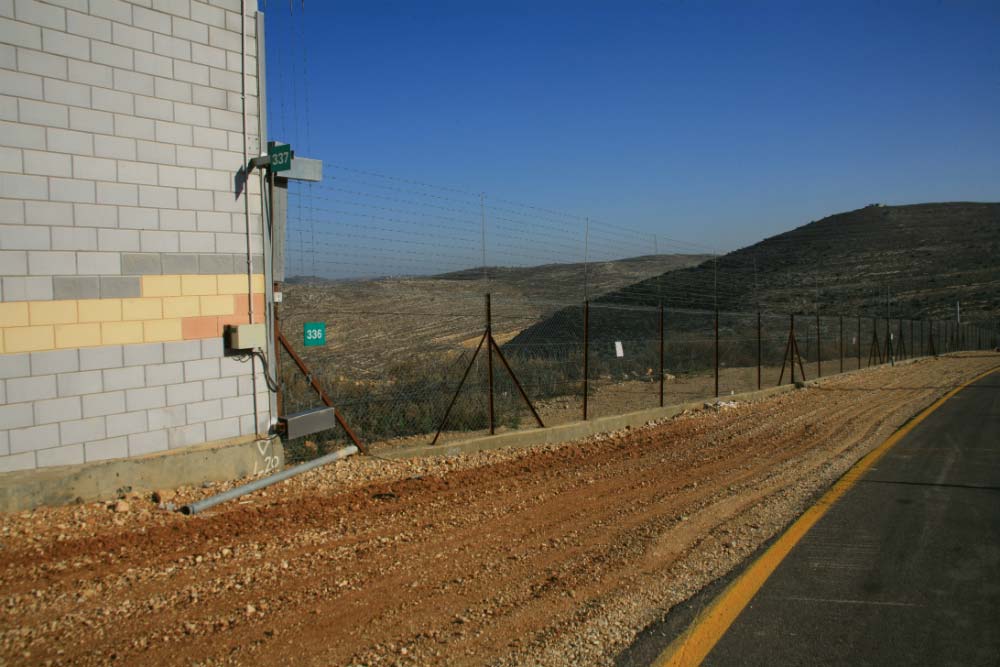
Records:
M720 250L1000 200L995 1L262 9L269 131L299 155Z

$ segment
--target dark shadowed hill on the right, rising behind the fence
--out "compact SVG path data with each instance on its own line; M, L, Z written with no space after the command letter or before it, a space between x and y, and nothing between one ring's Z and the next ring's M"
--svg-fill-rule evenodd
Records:
M787 314L1000 315L1000 204L871 205L810 222L698 266L637 281L592 300L592 330L620 337L653 324L601 305ZM597 326L594 326L597 318ZM525 329L512 343L579 337L578 309ZM677 319L674 320L677 322Z

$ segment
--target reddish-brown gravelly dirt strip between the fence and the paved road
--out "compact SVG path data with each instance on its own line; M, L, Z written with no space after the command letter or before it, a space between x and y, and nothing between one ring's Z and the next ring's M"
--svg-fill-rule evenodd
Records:
M880 367L561 445L354 458L194 517L135 495L6 515L0 664L611 664L998 364Z

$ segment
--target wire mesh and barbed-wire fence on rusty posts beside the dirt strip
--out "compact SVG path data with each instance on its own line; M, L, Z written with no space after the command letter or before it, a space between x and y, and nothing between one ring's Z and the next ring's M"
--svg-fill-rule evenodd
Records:
M320 405L315 379L377 447L482 435L491 421L494 432L534 428L535 413L554 425L585 409L597 418L725 398L790 382L793 359L795 379L889 361L887 341L894 359L928 354L932 338L937 352L959 345L942 322L822 308L817 317L814 286L781 287L772 294L792 296L760 304L758 273L772 267L756 258L326 169L323 182L288 193L279 327L310 376L281 355L281 411ZM789 345L791 312L800 357ZM326 325L325 345L305 345L310 322ZM288 458L345 439L339 429L314 434L289 443Z

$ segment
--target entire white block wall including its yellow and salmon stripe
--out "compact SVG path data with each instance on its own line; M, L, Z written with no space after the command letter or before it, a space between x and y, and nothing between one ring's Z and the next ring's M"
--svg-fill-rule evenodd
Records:
M262 376L220 337L264 317L240 11L0 0L0 472L266 432Z

